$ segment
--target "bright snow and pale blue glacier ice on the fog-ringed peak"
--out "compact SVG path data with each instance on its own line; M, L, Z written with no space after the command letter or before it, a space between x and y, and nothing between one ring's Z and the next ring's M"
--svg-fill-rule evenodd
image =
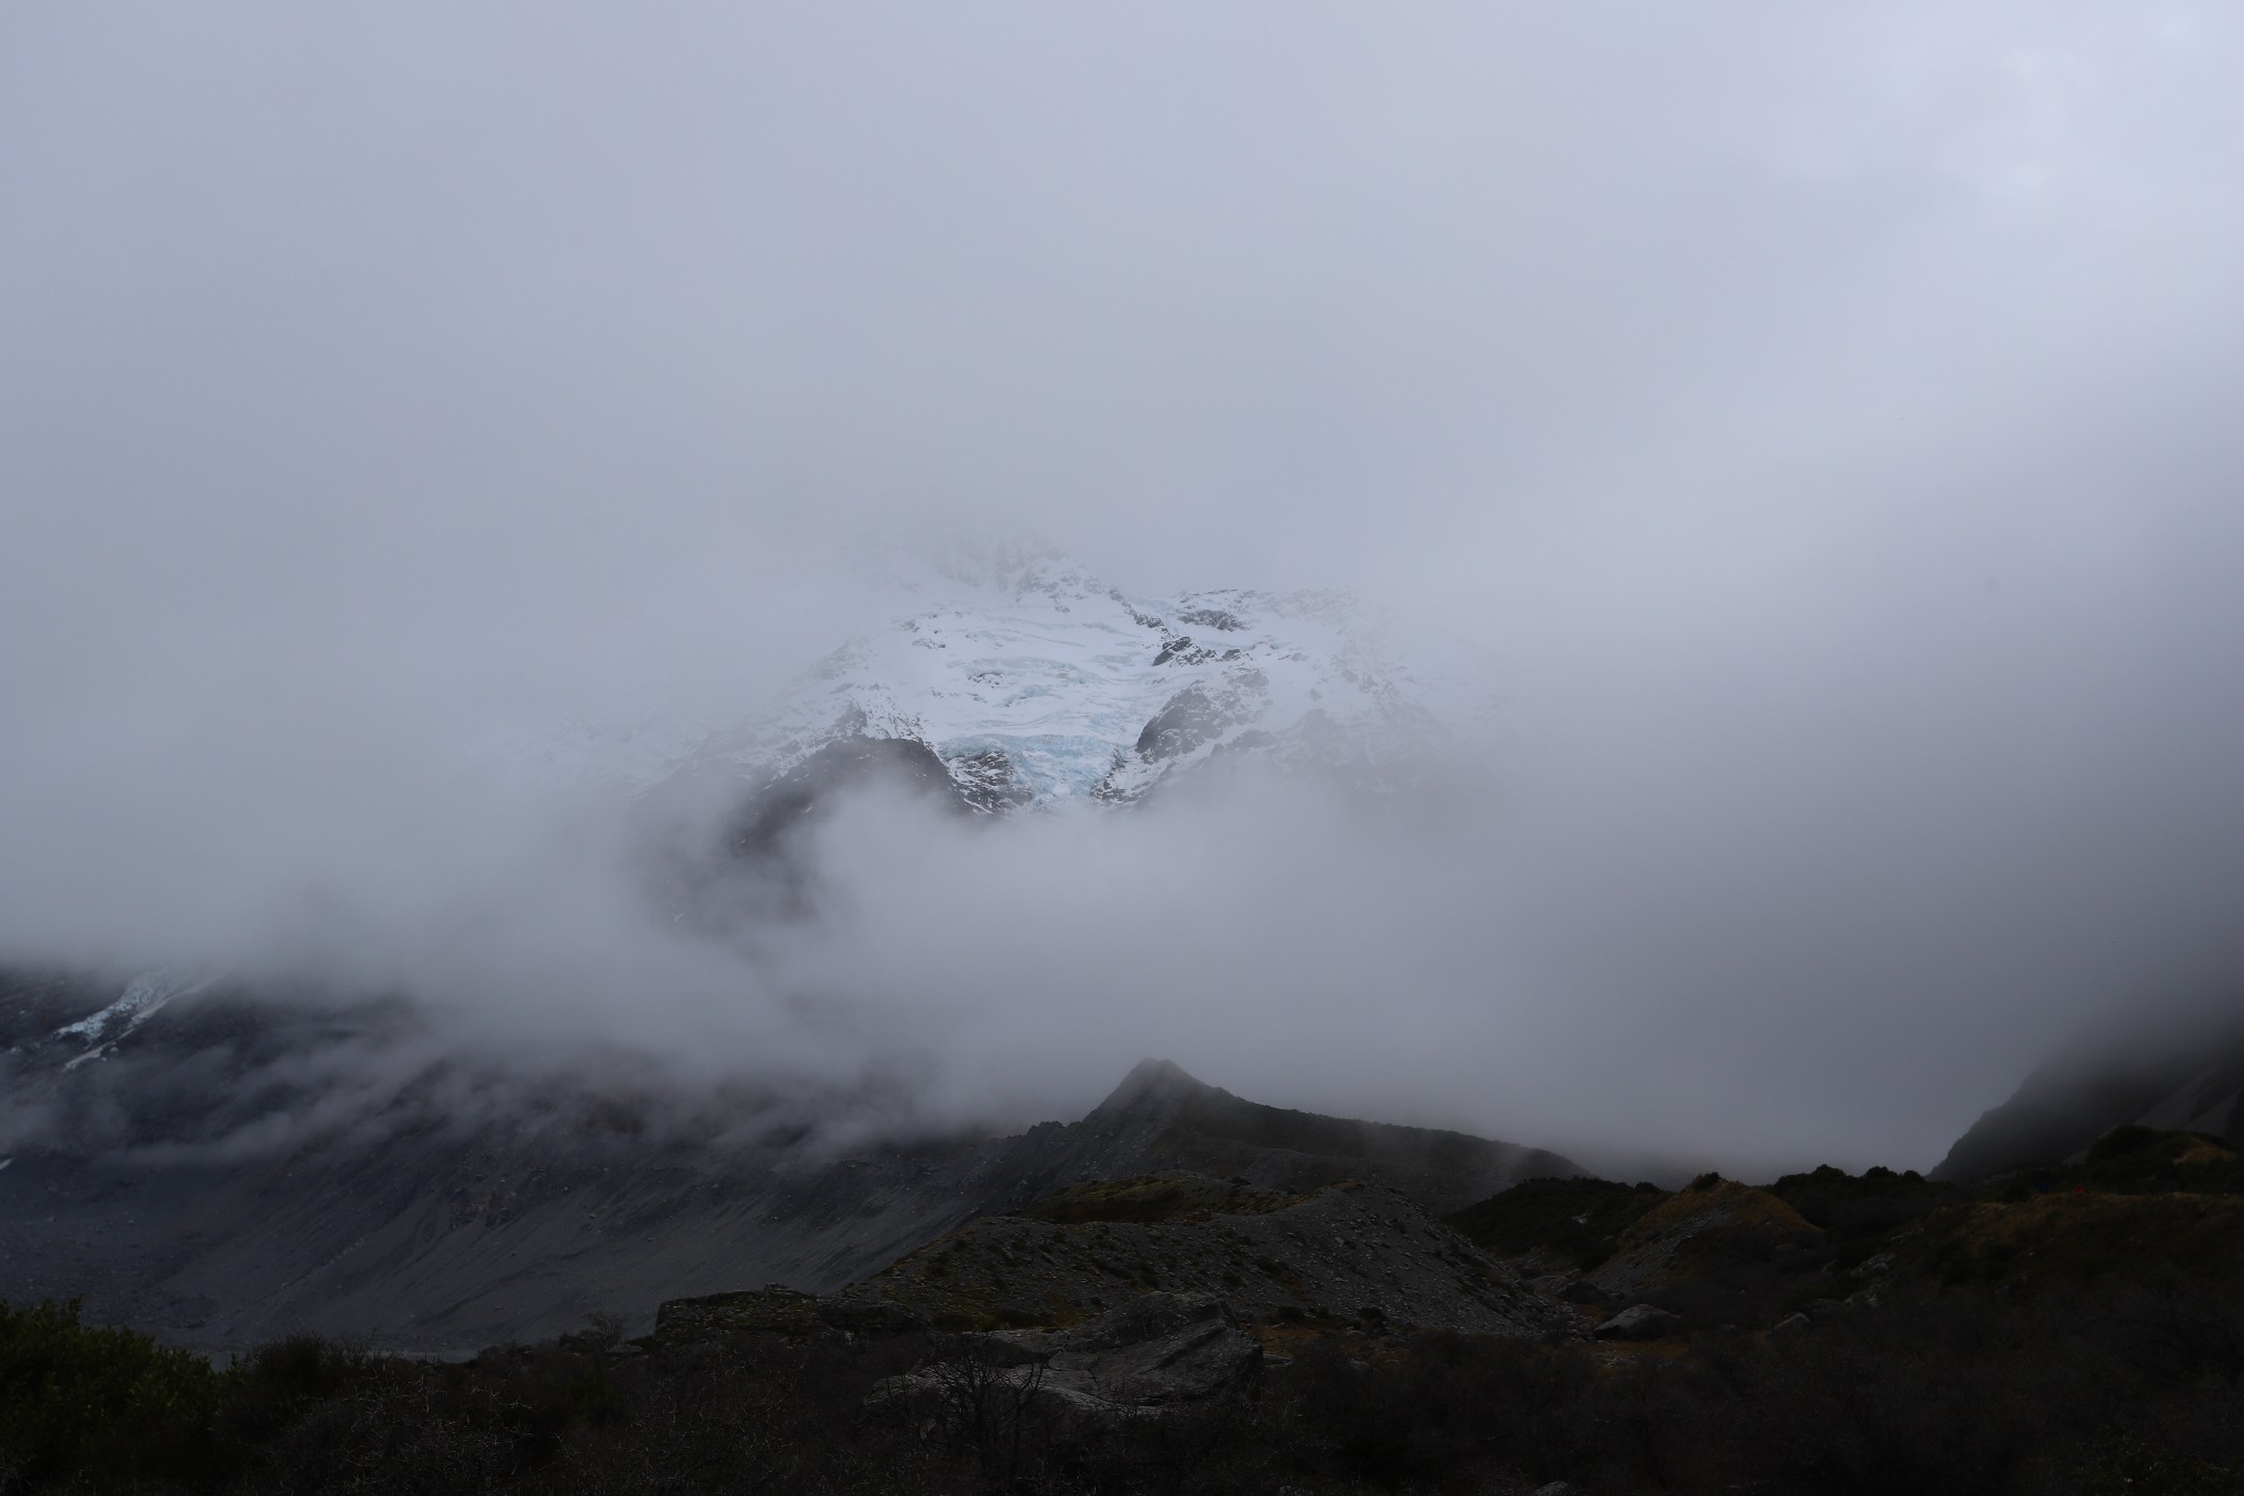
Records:
M1344 594L1129 594L1034 541L880 561L889 617L691 772L770 781L842 738L911 740L994 812L1126 803L1225 756L1380 787L1443 731Z

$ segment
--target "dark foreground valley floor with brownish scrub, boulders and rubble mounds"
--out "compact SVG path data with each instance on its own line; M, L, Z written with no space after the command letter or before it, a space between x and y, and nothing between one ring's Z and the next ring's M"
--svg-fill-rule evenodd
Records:
M1539 1178L1445 1220L1167 1171L458 1361L0 1310L0 1489L2244 1492L2240 1247L2244 1157L2148 1128L1977 1186Z

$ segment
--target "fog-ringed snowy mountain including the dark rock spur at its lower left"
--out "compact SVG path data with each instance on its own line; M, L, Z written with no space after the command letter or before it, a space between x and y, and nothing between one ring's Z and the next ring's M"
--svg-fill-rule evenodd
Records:
M644 834L666 839L673 915L743 917L700 908L696 886L738 884L743 866L774 875L776 859L801 881L808 823L875 787L972 816L1082 816L1180 792L1205 810L1243 781L1290 781L1407 819L1465 810L1492 783L1477 682L1400 653L1349 594L1126 594L1026 534L864 547L857 565L880 583L877 626L758 713L635 778L628 760L595 767L588 745L541 756L633 789ZM693 868L696 852L714 864Z

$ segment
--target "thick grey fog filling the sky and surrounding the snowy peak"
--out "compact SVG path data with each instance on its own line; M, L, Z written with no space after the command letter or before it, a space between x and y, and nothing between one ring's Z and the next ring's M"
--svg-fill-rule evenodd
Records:
M0 16L0 955L498 1054L1930 1166L2240 980L2231 7ZM1034 529L1477 659L1490 794L644 897L604 767Z

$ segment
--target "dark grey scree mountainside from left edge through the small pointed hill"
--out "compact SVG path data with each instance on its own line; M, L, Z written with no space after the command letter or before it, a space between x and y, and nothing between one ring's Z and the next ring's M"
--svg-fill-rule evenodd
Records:
M478 1090L444 1059L368 1101L341 1077L402 1014L215 989L159 1005L162 987L25 978L0 996L0 1296L83 1294L99 1319L204 1346L312 1328L471 1348L682 1294L830 1290L974 1216L1178 1160L1434 1207L1571 1169L1259 1108L1153 1061L1075 1124L846 1151L752 1099L709 1101L700 1130L651 1126L592 1081Z

